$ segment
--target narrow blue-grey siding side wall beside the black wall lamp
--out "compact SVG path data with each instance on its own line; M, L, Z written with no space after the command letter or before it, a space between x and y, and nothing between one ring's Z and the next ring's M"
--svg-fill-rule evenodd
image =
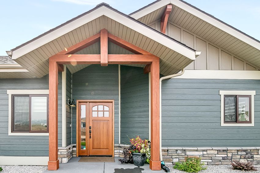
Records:
M68 99L72 98L72 74L66 69L66 146L72 144L72 107L68 104Z

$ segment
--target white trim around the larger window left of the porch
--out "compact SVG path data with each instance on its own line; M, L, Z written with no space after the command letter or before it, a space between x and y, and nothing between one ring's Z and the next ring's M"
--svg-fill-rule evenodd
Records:
M12 95L15 94L49 94L48 89L7 90L8 94L8 136L49 136L49 133L12 133Z

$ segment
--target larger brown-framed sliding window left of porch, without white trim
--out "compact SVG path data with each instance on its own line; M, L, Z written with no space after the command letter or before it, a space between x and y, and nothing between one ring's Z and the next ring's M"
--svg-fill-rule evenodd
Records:
M48 102L48 95L12 95L12 132L48 132Z

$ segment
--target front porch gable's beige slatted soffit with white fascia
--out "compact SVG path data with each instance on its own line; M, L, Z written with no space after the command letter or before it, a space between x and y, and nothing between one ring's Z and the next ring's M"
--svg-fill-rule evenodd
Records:
M99 7L96 7L99 9ZM131 20L136 23L136 26L128 25L128 23L122 24L121 20L116 21L110 17L105 15L101 15L96 17L95 19L85 22L80 27L76 27L75 29L68 31L67 33L53 39L52 41L48 41L47 43L37 47L36 45L32 49L32 43L37 41L37 39L42 39L45 37L43 35L40 38L35 38L35 40L29 41L24 45L18 46L13 51L13 59L19 63L24 68L28 69L29 72L24 75L24 77L43 77L44 75L49 73L49 57L62 51L64 48L70 47L75 45L76 43L91 37L94 34L97 34L101 29L106 28L109 33L122 38L158 57L160 57L160 73L164 75L174 74L179 72L181 69L186 67L189 63L195 60L195 50L189 48L188 46L170 38L164 34L155 31L154 29L143 25L142 23L138 23L136 20L132 19L131 17L124 15L118 11L115 11L111 7L103 6L103 11L108 10L113 11L111 13L115 13L118 15L115 18L120 18L120 14L123 16L125 20ZM95 9L95 10L98 10ZM89 13L95 12L95 10L90 11ZM98 12L94 13L94 16L97 16ZM107 12L108 14L108 12ZM88 15L88 14L85 14ZM92 15L92 17L93 17ZM108 15L109 16L109 15ZM113 15L111 15L113 17ZM121 17L122 17L121 16ZM71 23L80 20L80 18L70 21ZM81 21L82 22L82 21ZM65 25L70 25L71 23L67 23ZM65 27L65 25L61 27ZM127 26L128 25L128 26ZM61 28L60 27L60 28ZM138 28L139 27L139 28ZM60 29L58 28L58 29ZM143 29L142 29L143 28ZM57 30L58 30L57 29ZM147 30L145 32L143 30ZM139 32L138 32L138 31ZM56 32L56 30L52 31ZM140 33L143 32L143 33ZM147 34L148 33L148 34ZM47 33L48 34L48 33ZM51 34L51 33L49 33ZM150 34L150 35L149 35ZM149 35L149 37L147 36ZM154 35L154 36L153 36ZM157 37L155 37L157 35ZM152 37L154 37L152 39ZM160 38L160 39L159 39ZM157 39L157 40L156 40ZM39 42L36 42L39 44ZM29 46L31 51L25 53L26 50L19 50L28 48ZM97 53L100 51L100 44L96 43L94 45L89 46L81 51L84 53ZM23 53L24 52L24 53ZM181 52L181 53L180 53ZM108 53L111 54L132 54L113 43L109 43L108 45ZM20 56L21 55L21 56ZM75 73L78 70L87 67L88 65L80 65L80 66L73 66L69 65L68 68L72 73Z

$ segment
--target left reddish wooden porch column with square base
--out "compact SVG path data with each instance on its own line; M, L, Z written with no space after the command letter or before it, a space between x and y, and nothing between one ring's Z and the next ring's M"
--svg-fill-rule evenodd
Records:
M58 64L49 62L49 161L48 170L59 168L58 160Z

